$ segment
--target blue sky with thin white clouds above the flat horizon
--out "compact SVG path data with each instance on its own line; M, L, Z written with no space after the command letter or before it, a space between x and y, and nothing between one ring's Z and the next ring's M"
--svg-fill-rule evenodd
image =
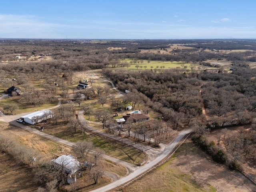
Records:
M0 38L256 38L255 0L1 0Z

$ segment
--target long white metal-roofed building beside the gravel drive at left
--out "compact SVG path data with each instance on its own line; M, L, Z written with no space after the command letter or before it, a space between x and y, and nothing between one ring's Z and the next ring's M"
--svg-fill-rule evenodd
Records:
M24 115L20 118L24 120L24 122L34 125L41 121L52 118L52 116L53 116L53 113L51 110L43 110L43 111L36 111L28 115Z

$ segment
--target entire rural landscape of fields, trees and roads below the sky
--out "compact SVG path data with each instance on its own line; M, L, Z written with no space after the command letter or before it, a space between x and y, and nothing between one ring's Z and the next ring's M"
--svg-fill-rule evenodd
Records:
M254 41L0 45L0 191L256 191Z

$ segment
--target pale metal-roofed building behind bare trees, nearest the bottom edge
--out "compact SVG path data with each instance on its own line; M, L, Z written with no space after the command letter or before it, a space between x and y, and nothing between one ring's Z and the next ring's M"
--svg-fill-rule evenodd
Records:
M53 159L52 162L58 164L69 174L74 174L81 168L81 163L72 155L62 155L56 159Z

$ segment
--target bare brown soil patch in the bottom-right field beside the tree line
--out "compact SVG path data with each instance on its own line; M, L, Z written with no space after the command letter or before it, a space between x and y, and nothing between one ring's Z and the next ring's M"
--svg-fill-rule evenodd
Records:
M202 186L210 184L218 192L255 192L256 185L238 171L232 171L224 165L213 162L210 156L200 151L191 142L190 150L176 154L172 166L192 176Z

